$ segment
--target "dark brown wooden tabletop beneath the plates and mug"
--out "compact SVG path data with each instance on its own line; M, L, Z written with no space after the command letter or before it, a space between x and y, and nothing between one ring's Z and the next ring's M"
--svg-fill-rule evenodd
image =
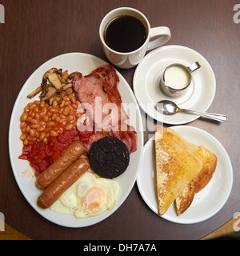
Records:
M32 239L199 239L234 217L240 210L240 24L233 19L236 1L2 0L0 4L5 10L5 23L0 23L0 212L7 225ZM135 184L126 202L106 220L85 228L66 228L42 218L15 182L8 129L19 90L38 66L58 54L82 52L106 60L98 26L104 15L118 6L142 11L151 26L169 26L172 38L166 45L197 50L214 70L217 90L209 111L226 114L229 119L221 124L198 119L187 125L213 134L226 148L234 168L234 186L226 205L205 222L182 225L158 217L146 206ZM119 70L130 86L134 70ZM142 118L144 122L143 112ZM145 142L147 138L146 131Z

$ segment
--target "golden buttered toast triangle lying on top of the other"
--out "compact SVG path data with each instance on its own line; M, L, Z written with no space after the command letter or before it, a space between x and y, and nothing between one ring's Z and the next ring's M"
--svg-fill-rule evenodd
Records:
M157 126L155 130L158 214L163 215L178 194L202 169L193 154L198 146L181 138L174 130Z

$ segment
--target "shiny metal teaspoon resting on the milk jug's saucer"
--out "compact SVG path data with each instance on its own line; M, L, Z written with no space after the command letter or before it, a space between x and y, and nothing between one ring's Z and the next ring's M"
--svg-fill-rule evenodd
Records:
M169 100L162 100L158 102L156 107L157 107L157 110L162 114L172 115L178 112L183 112L186 114L195 114L195 115L202 116L204 118L210 118L218 122L225 122L227 119L226 115L224 114L212 114L212 113L206 113L206 112L198 112L194 110L181 109L174 102L171 102Z

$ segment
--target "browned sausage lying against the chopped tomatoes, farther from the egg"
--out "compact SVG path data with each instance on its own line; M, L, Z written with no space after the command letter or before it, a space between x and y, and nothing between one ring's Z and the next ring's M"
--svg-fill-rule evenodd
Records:
M80 141L75 141L68 146L58 160L53 162L46 170L40 174L36 180L39 189L46 189L67 167L78 159L85 151L85 146Z

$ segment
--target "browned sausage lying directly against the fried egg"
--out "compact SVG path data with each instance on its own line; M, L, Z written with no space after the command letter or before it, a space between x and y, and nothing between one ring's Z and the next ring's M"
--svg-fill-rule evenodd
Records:
M87 158L79 158L69 166L58 178L43 190L38 197L38 206L46 209L54 204L58 198L82 176L90 167Z

